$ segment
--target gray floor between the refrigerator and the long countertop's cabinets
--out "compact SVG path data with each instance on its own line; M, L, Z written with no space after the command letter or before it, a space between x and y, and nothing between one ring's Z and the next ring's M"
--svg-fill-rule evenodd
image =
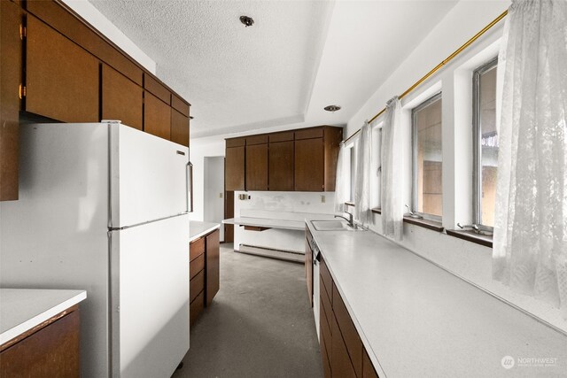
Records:
M221 244L221 289L173 377L322 377L304 266Z

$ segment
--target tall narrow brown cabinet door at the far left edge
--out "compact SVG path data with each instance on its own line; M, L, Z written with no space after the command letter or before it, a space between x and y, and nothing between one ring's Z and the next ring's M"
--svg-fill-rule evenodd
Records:
M21 11L9 1L0 6L0 201L7 201L18 199Z

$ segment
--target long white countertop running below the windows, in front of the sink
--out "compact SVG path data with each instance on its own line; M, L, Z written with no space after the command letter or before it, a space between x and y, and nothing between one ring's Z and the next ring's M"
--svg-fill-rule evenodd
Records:
M378 375L567 376L567 336L380 235L307 225Z

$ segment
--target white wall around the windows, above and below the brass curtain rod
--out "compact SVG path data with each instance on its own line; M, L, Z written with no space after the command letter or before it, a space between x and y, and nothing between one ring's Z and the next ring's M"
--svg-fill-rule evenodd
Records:
M479 6L482 4L482 6ZM423 74L447 58L463 42L478 33L509 6L502 2L462 1L447 14L431 34L421 42L399 68L362 105L348 122L352 135L363 120L384 108L388 99L408 89ZM455 228L456 222L469 222L472 216L472 140L471 82L472 70L497 55L503 22L493 27L478 42L455 58L422 86L402 100L407 115L416 104L435 91L443 91L443 226ZM411 127L409 120L405 127ZM404 143L410 145L408 136ZM404 146L405 167L411 168L410 150ZM408 178L406 178L408 181ZM411 183L406 185L409 201ZM380 215L375 215L371 230L382 233ZM462 279L500 297L509 304L567 331L558 309L535 298L517 294L492 279L492 249L426 228L404 224L403 247L431 260Z

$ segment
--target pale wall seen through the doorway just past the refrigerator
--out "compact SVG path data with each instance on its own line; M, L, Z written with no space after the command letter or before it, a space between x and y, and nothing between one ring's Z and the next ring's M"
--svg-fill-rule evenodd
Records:
M224 156L205 158L203 220L221 223L224 220ZM224 228L221 227L221 240Z

